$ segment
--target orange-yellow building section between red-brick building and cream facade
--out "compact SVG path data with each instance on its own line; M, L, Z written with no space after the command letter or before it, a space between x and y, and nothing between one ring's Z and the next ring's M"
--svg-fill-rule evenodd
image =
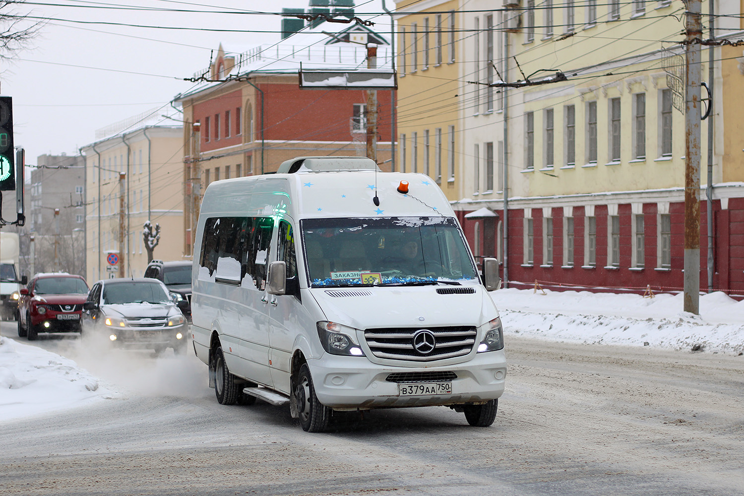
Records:
M461 198L460 3L396 4L396 170L429 175L450 200Z

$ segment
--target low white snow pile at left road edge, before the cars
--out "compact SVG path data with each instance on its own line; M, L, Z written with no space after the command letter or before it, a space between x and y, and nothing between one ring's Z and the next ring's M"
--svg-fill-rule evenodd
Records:
M0 338L0 422L112 399L116 394L74 361Z

